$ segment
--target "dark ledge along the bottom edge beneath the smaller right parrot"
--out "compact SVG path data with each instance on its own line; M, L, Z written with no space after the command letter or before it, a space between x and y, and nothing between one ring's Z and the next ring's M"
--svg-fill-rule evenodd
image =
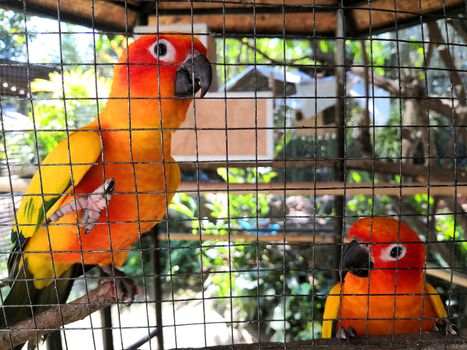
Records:
M464 339L467 332L463 333ZM316 339L307 341L294 341L287 343L266 343L260 344L235 344L221 345L221 346L208 346L203 347L205 350L305 350L305 349L397 349L403 348L404 350L460 350L465 349L466 344L462 342L460 337L456 336L442 336L434 333L422 334L399 334L394 336L372 336L372 337L357 337L351 339L350 343L340 339ZM195 350L195 348L184 348L179 350Z

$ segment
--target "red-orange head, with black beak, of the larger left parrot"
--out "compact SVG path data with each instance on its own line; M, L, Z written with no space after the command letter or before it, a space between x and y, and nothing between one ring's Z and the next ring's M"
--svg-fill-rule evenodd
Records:
M120 56L113 87L130 89L131 97L204 96L212 79L206 54L191 35L143 35Z

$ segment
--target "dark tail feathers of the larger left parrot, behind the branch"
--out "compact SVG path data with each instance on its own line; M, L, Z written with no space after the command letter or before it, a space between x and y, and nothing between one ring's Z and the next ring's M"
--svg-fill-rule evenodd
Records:
M34 286L33 279L26 270L27 268L19 269L11 290L3 301L0 329L31 319L33 315L37 316L54 305L66 303L74 279L83 273L80 264L72 265L56 282L39 289ZM21 349L23 345L15 346L14 349Z

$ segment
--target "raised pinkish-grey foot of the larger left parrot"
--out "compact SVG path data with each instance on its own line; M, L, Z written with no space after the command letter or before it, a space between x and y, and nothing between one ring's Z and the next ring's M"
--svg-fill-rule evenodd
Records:
M47 224L58 221L62 216L83 210L79 226L84 227L84 234L88 234L99 219L101 212L107 208L115 189L115 180L109 178L88 196L77 197L54 211L47 219Z

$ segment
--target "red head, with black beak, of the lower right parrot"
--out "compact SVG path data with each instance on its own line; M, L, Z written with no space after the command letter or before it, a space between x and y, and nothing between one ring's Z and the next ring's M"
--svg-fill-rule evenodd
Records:
M425 266L425 245L409 226L392 218L360 219L350 227L349 238L342 263L355 276L368 277L371 269L421 275Z

